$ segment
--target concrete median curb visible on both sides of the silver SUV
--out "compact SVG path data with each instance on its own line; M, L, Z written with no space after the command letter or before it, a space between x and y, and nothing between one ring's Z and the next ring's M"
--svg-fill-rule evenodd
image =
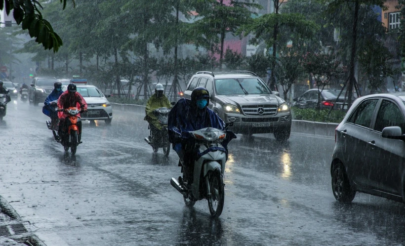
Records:
M134 113L145 113L145 106L136 104L111 103L113 110L131 111ZM291 131L322 136L334 136L338 123L310 122L292 120Z

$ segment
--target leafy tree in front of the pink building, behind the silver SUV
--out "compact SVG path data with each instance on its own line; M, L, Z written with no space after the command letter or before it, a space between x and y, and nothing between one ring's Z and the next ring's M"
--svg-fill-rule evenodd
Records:
M221 68L226 34L235 33L240 26L251 20L254 13L248 8L261 8L261 5L252 3L252 0L207 0L206 4L202 5L203 7L197 8L203 18L195 22L196 32L199 38L203 38L206 44L210 45L208 48L211 51L219 53ZM219 48L216 45L218 42Z

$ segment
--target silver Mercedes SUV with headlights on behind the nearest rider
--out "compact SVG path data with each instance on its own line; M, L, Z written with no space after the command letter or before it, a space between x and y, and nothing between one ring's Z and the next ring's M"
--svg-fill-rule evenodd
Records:
M235 133L251 135L274 133L279 141L289 138L291 111L278 92L270 88L256 74L248 71L229 73L197 72L187 85L184 97L190 99L196 87L205 87L210 94L208 107Z

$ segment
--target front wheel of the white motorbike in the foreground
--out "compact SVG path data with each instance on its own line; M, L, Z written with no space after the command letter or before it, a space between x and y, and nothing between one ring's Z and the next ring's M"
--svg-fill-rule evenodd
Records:
M218 169L215 169L209 174L208 181L211 193L211 196L208 197L209 212L211 213L211 216L217 218L221 215L225 202L222 173Z

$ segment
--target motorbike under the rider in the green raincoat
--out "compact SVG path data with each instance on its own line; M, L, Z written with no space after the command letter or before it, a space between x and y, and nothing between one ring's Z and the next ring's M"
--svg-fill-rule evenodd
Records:
M165 156L168 156L170 153L170 142L167 133L167 121L169 113L170 109L168 108L155 109L153 111L153 114L159 120L159 123L162 126L162 130L157 134L157 136L155 136L151 130L150 137L145 137L145 141L152 146L154 152L158 152L159 148L163 148L163 154Z

